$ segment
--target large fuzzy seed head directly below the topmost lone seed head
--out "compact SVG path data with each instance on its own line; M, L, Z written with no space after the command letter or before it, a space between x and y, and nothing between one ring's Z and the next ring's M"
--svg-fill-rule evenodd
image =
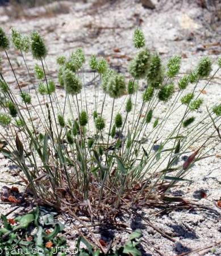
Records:
M149 68L150 53L149 50L143 49L140 51L134 60L131 61L129 72L136 79L141 79L147 75Z

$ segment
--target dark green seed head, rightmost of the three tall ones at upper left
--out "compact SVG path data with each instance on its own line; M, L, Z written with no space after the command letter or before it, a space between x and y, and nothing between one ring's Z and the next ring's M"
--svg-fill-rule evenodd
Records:
M32 56L36 60L43 60L48 54L47 48L44 44L44 40L36 31L32 32L31 34L31 52Z

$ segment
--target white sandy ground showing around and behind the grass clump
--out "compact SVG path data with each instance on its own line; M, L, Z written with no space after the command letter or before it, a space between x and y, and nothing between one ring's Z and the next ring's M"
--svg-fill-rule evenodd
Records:
M101 14L96 13L88 15L83 13L86 8L87 13L90 11L88 6L81 4L72 5L70 3L71 11L69 14L60 14L52 18L40 17L28 20L20 19L19 22L18 20L9 19L6 23L3 23L2 26L5 27L6 30L11 26L16 26L24 32L30 32L32 29L39 30L41 34L45 36L45 40L49 46L49 56L46 61L53 77L56 77L57 65L55 65L55 57L57 53L68 55L69 52L79 46L84 46L87 54L94 52L100 54L105 53L106 55L111 54L111 64L115 65L115 67L122 66L122 71L124 71L124 67L127 67L127 60L122 58L119 59L112 55L119 54L131 56L134 54L134 49L131 47L131 35L136 26L136 18L134 18L135 14L139 14L139 17L144 20L142 27L145 34L147 34L147 44L149 48L161 52L163 59L166 59L166 57L171 56L174 53L188 57L188 59L184 59L183 61L184 65L182 67L182 72L193 67L199 57L204 54L204 52L196 51L198 44L212 43L219 39L215 32L212 34L210 30L203 30L205 23L203 23L201 19L194 19L197 12L199 12L199 9L195 6L191 9L187 9L187 6L184 5L181 10L178 10L178 7L175 6L174 9L159 13L159 11L143 9L143 7L137 3L132 5L131 2L132 1L122 1L102 10ZM89 26L90 24L92 24L92 28ZM97 37L97 26L115 28L111 30L102 28L101 31L99 31L99 37ZM124 29L122 30L119 27L124 27ZM195 38L193 41L187 41L185 39L190 32L194 33ZM176 39L177 37L179 40ZM113 49L116 47L120 48L120 53L114 53ZM13 64L15 66L17 65L16 73L18 74L19 82L27 82L27 73L24 72L23 67L19 67L18 65L18 63L22 63L21 57L15 59L14 51L10 51L10 56L14 59ZM214 61L217 59L217 56L211 55L211 57ZM34 65L30 55L27 55L27 60L30 65ZM215 68L216 66L214 69ZM14 77L11 76L9 65L7 65L6 60L3 63L3 73L5 74L6 80L11 82L11 86L16 88ZM219 76L220 75L221 74L219 73ZM90 79L91 76L86 75L85 81L87 82ZM205 103L203 104L202 109L205 110L206 105L211 106L220 102L221 89L219 81L219 79L216 79L215 82L211 82L206 88L207 93L203 95ZM198 85L197 92L202 89L205 82L206 81L201 82ZM24 85L27 86L27 84ZM31 89L31 93L35 101L35 93L33 89ZM138 93L138 105L141 104L141 93L142 92ZM58 94L59 98L63 97L62 101L64 101L64 92L58 90ZM86 88L86 95L88 96L88 105L93 108L93 86L88 86ZM82 94L82 96L84 97L84 94ZM124 98L120 98L120 100L117 101L117 104L120 106L123 100ZM102 96L99 98L99 104L102 104ZM110 116L110 109L111 100L108 98L104 112L104 117L107 119L109 119L108 117ZM166 106L161 105L154 113L154 117L162 118L165 114L165 109ZM117 110L118 109L116 108L115 113ZM180 111L181 110L177 111L178 116L180 115ZM203 113L198 112L198 118L200 118L202 114ZM168 126L165 126L164 133L176 125L176 122L176 116L171 117ZM209 133L209 131L207 131L207 133ZM198 146L199 144L193 145L194 148L197 148ZM212 150L210 154L216 154L216 157L206 158L195 164L190 174L187 176L187 179L191 179L194 182L191 184L182 184L181 187L173 190L173 194L175 196L184 196L186 199L202 205L208 205L221 213L214 204L214 200L219 200L221 196L220 142L218 140L215 141L211 144L211 147ZM18 176L14 176L15 170L16 167L1 155L0 188L3 185L7 185L8 182L19 180ZM19 188L22 189L21 187ZM200 199L200 191L206 192L206 199ZM10 210L11 207L9 204L0 204L1 213L5 214ZM149 241L149 244L155 246L162 255L170 256L177 255L187 250L212 245L212 243L221 240L221 224L219 223L219 217L209 211L203 209L182 209L155 216L153 213L156 213L157 210L159 209L144 208L140 210L140 213L143 214L144 217L149 217L149 220L154 225L159 229L164 230L166 234L169 234L169 236L173 237L177 242L171 242L162 237L155 230L145 225L144 221L135 216L125 216L122 220L118 220L119 222L126 223L132 230L136 228L142 229L146 240L146 242L142 243L144 249L143 255L159 255L156 251L153 251L152 246L148 245L147 241ZM69 226L69 224L67 226ZM70 225L70 228L67 227L67 229L72 230L72 225ZM128 237L127 232L120 233L119 235L116 230L114 231L114 236L120 236L123 241ZM96 231L94 230L94 232ZM106 237L107 239L110 239L112 233L107 234L107 232L100 232L97 236L101 237L101 234L104 238ZM201 255L201 253L203 253L203 251L192 253L191 255ZM220 247L214 246L211 251L202 255L221 255L221 249Z

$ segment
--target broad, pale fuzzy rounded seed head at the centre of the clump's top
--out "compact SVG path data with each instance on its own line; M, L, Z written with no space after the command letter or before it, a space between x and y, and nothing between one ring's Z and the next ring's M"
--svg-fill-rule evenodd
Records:
M126 82L122 74L112 75L107 84L107 93L111 98L120 98L126 92Z

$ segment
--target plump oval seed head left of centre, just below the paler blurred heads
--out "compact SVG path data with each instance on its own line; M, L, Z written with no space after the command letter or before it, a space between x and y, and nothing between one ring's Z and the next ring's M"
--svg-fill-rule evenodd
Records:
M76 95L81 92L82 84L76 74L69 69L64 71L64 85L68 94Z

